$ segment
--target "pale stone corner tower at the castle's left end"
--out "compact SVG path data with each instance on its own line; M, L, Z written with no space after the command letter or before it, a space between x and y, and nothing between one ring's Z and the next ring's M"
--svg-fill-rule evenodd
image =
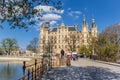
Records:
M48 42L48 25L46 22L40 26L39 42L39 52L44 53L45 45Z

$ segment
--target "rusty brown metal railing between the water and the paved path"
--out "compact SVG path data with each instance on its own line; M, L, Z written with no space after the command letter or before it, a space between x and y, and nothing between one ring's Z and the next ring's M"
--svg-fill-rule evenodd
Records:
M58 67L59 60L55 59L49 59L49 61L46 61L47 59L43 58L37 61L35 59L33 64L27 65L26 62L23 62L23 75L18 80L37 80L38 78L44 74L47 70L51 69L52 67Z

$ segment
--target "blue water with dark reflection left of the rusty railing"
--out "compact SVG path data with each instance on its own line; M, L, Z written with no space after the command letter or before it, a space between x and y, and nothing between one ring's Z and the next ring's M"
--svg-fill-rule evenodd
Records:
M0 80L17 80L21 75L21 64L0 62Z

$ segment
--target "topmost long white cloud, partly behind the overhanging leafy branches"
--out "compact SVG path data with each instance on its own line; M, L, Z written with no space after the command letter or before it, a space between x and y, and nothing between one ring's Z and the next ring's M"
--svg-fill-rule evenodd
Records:
M50 12L50 13L54 12L54 13L60 13L60 14L64 13L64 10L58 10L53 6L39 5L39 6L36 6L35 9L40 10L40 12L42 12L42 11L43 12Z

